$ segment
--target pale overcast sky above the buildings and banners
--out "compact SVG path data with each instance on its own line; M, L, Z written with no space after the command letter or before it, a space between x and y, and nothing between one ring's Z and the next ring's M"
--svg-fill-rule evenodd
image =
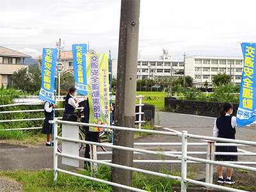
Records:
M120 0L0 0L0 45L36 58L59 38L65 50L118 52ZM256 1L141 0L140 58L242 56L238 42L256 42Z

